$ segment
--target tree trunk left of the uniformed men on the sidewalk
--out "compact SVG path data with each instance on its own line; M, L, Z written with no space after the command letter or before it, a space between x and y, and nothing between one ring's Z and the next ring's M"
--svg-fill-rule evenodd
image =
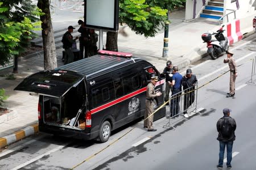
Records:
M49 9L49 0L39 0L38 7L44 12L44 15L40 16L42 22L44 69L55 69L57 67L56 47L52 28L51 11Z

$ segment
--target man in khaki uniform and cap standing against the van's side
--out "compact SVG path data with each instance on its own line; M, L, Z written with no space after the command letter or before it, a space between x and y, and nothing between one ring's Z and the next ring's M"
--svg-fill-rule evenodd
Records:
M151 82L147 84L146 111L144 114L144 128L147 128L147 131L156 131L156 129L153 128L153 119L154 119L154 114L152 114L154 112L153 100L154 100L154 97L162 95L162 93L159 91L155 92L156 82L158 82L158 76L152 76Z

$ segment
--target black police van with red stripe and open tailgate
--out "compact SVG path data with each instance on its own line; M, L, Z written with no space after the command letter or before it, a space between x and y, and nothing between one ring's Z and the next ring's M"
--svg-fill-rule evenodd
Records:
M32 74L14 90L39 94L39 130L65 137L108 141L112 130L144 116L146 88L159 71L129 53L99 54ZM155 90L163 92L164 77ZM154 100L155 108L164 103ZM164 117L163 107L154 120Z

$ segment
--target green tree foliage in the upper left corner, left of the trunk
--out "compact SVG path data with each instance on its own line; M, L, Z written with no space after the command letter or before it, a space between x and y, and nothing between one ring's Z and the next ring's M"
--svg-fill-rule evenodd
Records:
M0 2L0 65L24 52L32 39L32 31L40 29L40 11L30 0Z

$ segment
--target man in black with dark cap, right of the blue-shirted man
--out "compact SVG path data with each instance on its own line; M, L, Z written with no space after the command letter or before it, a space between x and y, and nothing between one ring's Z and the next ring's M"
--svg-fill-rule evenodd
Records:
M196 75L192 74L191 69L187 69L186 74L181 80L181 84L184 90L184 117L188 118L187 109L195 101L195 86L197 84Z

